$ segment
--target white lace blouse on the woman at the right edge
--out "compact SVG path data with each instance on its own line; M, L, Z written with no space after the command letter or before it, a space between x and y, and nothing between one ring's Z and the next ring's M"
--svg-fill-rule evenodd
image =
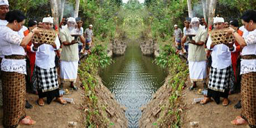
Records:
M242 55L256 55L256 29L244 36L247 46L242 50ZM241 59L241 73L256 72L256 59Z

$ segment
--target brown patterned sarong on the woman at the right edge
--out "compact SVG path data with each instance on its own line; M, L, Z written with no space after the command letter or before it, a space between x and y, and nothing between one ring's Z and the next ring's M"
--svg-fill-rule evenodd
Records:
M242 75L241 81L242 117L256 128L256 72Z

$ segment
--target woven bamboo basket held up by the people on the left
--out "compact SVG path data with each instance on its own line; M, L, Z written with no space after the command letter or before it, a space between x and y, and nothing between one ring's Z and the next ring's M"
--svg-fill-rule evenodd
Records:
M33 42L37 42L39 44L55 45L55 39L57 34L55 30L48 30L43 28L38 29L40 30L40 36L35 35L32 38Z

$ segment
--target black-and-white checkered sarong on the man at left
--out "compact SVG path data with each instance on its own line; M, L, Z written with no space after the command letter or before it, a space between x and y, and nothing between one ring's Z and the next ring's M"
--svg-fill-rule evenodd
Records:
M43 69L35 67L35 75L37 80L37 90L53 91L59 88L56 68Z

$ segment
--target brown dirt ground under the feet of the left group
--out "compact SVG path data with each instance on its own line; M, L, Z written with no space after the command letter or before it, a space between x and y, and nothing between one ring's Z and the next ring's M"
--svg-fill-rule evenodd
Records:
M76 85L80 85L77 81ZM26 109L27 116L36 120L37 123L33 126L20 126L19 128L69 128L68 122L77 122L76 128L82 128L82 116L80 112L82 103L82 93L84 92L81 88L77 91L71 90L68 83L65 83L64 89L69 89L70 93L64 95L65 98L73 98L73 103L67 103L61 105L58 102L52 101L51 104L46 103L45 106L40 107L36 101L38 96L35 94L27 93L27 100L33 105L32 109ZM0 108L0 128L2 126L2 108Z

